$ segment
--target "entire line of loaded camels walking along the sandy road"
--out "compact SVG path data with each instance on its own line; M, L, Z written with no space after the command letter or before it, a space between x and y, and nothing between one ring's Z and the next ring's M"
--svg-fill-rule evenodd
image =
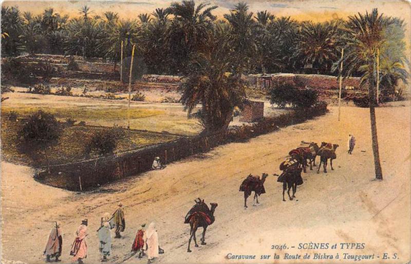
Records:
M321 145L318 146L314 142L301 142L301 146L298 146L295 149L292 149L286 159L279 165L279 169L282 171L281 175L273 174L278 176L277 182L283 183L283 201L285 200L285 191L287 190L288 197L290 200L295 198L295 193L297 191L297 186L303 184L303 178L301 177L301 172L306 173L306 167L310 164L310 170L312 171L312 166L315 165L315 159L317 156L320 156L320 165L317 169L317 173L320 172L321 164L324 167L324 173L327 173L327 164L330 160L330 166L332 167L332 160L337 159L337 154L335 150L339 147L338 144L331 144L326 142L321 142ZM258 204L258 196L265 194L266 190L264 188L264 182L266 181L269 175L263 173L263 175L248 175L247 178L242 181L239 191L244 192L244 208L247 206L247 198L251 196L254 192L253 197L253 206ZM292 189L292 195L290 191ZM217 208L217 203L210 203L211 208L201 200L197 198L193 208L185 216L184 223L190 224L190 238L189 246L187 252L191 252L190 243L191 240L194 240L194 246L198 247L196 239L196 231L198 228L203 228L201 236L201 244L205 245L206 243L206 231L209 225L214 223L214 211Z

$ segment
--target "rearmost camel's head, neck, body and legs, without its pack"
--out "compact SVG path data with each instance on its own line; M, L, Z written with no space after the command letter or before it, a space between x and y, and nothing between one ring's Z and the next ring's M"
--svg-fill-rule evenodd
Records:
M202 238L201 244L205 245L206 243L206 230L208 226L212 223L214 223L214 211L217 207L217 203L210 203L211 205L211 217L209 217L206 213L203 212L194 212L192 216L190 217L190 238L189 238L189 248L187 249L187 252L191 252L190 250L190 243L191 243L191 238L194 239L195 247L198 248L197 240L196 240L196 231L198 228L202 227Z

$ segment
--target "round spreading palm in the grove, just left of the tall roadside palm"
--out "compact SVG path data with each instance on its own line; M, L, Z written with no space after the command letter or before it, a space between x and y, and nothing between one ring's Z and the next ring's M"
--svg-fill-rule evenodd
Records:
M303 23L293 58L300 58L304 64L312 64L319 71L317 73L326 73L338 60L341 49L338 37L335 23Z

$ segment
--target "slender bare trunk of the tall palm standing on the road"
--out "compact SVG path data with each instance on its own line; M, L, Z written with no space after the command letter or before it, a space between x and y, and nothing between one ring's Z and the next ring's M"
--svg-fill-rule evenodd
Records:
M369 69L374 68L374 63L369 63ZM382 180L382 170L381 170L381 163L380 163L380 153L378 149L378 137L377 137L377 120L376 120L376 89L374 87L374 76L373 70L369 73L368 79L368 98L369 98L369 116L371 121L371 140L372 140L372 153L374 155L374 166L376 171L376 179Z

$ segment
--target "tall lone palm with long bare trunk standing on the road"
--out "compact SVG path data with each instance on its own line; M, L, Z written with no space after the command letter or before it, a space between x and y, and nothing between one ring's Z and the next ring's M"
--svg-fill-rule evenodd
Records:
M382 170L377 137L376 107L376 54L386 41L384 29L393 24L393 20L372 9L371 13L365 15L349 16L346 23L347 40L344 48L344 70L345 77L353 72L362 73L362 83L368 85L369 112L371 121L372 152L376 179L382 180Z

